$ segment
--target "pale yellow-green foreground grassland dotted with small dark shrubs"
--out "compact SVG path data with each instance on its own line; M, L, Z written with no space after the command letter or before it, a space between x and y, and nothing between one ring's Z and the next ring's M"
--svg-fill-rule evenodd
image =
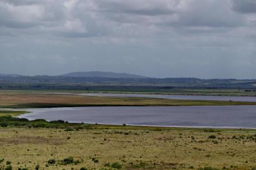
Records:
M0 128L13 169L255 169L256 132L175 128ZM8 163L9 163L8 162Z

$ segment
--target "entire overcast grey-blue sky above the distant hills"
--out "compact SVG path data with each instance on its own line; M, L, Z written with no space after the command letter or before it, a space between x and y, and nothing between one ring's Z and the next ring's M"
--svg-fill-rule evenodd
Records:
M256 0L0 0L0 73L256 79Z

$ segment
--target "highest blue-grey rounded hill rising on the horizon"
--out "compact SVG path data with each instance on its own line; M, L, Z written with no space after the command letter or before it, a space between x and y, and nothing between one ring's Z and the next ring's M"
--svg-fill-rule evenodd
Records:
M70 72L67 74L62 74L60 76L65 77L106 77L106 78L129 78L129 79L142 79L146 78L144 76L136 74L127 73L117 73L117 72L101 72L101 71L90 71L90 72Z

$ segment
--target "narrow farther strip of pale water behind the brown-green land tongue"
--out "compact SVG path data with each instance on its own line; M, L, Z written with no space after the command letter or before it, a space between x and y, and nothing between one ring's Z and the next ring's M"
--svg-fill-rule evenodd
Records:
M110 93L81 93L81 96L108 96L108 97L136 97L136 98L163 98L163 99L193 99L214 101L252 101L253 96L197 96L197 95L163 95L163 94L110 94Z

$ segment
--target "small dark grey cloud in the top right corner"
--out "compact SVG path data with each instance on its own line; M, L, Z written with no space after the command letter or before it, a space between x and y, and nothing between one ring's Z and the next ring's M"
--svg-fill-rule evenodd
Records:
M255 0L232 0L233 10L239 13L256 13L256 1Z

